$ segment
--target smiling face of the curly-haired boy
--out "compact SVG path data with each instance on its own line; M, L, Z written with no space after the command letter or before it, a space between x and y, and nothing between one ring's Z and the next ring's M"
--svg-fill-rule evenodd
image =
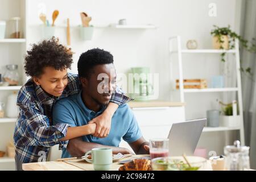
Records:
M39 78L34 77L34 81L48 94L59 97L68 84L68 71L67 69L60 71L52 67L46 67Z

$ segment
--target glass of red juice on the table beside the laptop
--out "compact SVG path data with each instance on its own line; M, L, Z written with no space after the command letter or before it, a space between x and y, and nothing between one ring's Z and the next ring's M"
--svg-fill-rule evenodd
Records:
M169 139L154 138L150 139L150 158L168 157L169 155Z

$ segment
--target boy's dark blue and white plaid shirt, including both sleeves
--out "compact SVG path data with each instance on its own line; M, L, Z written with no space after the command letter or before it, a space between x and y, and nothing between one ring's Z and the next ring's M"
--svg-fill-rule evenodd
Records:
M68 141L59 139L65 137L69 125L52 125L52 106L60 98L77 94L80 90L78 76L71 73L68 73L68 85L60 97L49 96L31 78L22 86L17 98L20 113L14 131L15 152L22 163L46 161L49 148L56 144L60 150L67 147ZM110 102L122 105L131 100L117 86Z

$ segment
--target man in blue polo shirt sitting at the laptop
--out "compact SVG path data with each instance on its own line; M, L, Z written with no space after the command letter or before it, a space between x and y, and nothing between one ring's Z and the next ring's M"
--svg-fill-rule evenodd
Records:
M90 49L79 58L77 64L82 91L58 101L53 107L53 122L67 123L71 126L86 125L94 117L104 112L115 90L116 78L113 56L102 49ZM98 79L100 78L100 79ZM136 154L148 154L148 142L142 137L141 130L133 112L127 104L119 106L112 117L108 137L97 138L85 135L71 139L62 158L82 156L95 147L112 148L113 153L133 153L127 148L118 147L121 139L130 144Z

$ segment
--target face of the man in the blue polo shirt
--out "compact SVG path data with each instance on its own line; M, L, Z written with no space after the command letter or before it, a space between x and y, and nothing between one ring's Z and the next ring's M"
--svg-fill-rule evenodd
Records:
M88 85L84 89L98 104L107 105L115 90L116 78L114 64L96 65L90 77L85 78Z

